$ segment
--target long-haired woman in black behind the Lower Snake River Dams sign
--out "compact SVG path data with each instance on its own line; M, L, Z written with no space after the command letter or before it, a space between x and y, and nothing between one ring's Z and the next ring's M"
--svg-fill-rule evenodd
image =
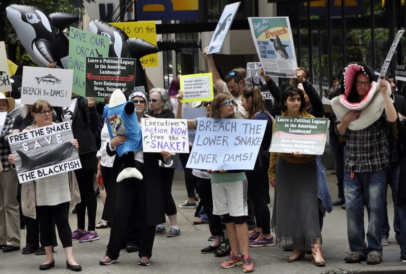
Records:
M273 246L271 235L271 214L267 205L266 193L269 192L267 169L269 167L269 146L272 138L274 117L266 110L259 86L247 87L241 96L242 105L249 119L267 120L264 138L257 155L253 170L247 170L248 191L254 203L257 228L250 233L250 246Z

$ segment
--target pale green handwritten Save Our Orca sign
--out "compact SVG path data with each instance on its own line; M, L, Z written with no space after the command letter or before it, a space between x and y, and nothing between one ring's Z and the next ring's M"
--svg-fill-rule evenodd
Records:
M69 69L73 69L75 93L85 96L86 57L108 57L110 37L76 27L69 29Z

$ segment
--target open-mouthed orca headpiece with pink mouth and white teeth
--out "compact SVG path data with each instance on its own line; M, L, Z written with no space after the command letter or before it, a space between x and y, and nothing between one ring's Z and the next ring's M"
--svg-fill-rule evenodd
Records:
M348 99L354 95L351 91L356 92L355 75L358 71L363 71L372 81L372 84L368 93L360 102L351 102L351 99L350 101ZM339 121L341 121L350 110L360 110L359 117L348 124L348 129L364 129L382 115L385 105L383 96L376 82L377 77L378 75L374 73L373 69L364 63L352 62L347 64L344 68L343 77L341 77L340 80L341 94L331 99L331 106ZM387 92L391 94L389 83Z

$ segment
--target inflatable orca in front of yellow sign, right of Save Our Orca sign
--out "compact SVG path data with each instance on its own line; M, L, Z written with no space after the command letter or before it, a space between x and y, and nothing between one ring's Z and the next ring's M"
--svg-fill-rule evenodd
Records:
M139 59L145 55L158 52L159 48L144 39L129 38L122 29L100 20L92 20L89 23L89 31L110 37L109 57L137 59L135 86L143 85L147 91L148 85Z

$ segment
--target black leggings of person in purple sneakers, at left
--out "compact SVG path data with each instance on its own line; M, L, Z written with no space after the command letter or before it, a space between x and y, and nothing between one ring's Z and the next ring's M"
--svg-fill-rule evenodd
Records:
M88 217L88 226L87 230L95 230L96 225L96 209L97 209L97 200L96 194L94 193L93 186L93 169L75 170L76 179L78 180L80 203L76 204L76 213L78 218L78 229L85 229L85 213L87 207L87 217Z

